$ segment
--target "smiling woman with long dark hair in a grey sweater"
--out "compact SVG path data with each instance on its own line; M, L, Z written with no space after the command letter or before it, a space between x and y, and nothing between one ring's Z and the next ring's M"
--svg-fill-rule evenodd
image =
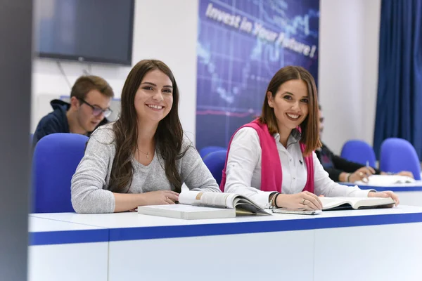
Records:
M219 192L217 182L184 136L179 89L167 65L141 60L122 90L120 118L102 126L72 178L78 213L129 211L150 204L174 204L181 185Z

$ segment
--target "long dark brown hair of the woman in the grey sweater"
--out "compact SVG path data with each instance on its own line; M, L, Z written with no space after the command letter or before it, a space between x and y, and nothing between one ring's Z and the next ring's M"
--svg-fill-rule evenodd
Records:
M181 128L178 104L179 89L170 68L160 60L141 60L129 72L122 89L120 118L113 124L116 155L110 174L108 190L118 193L127 192L134 174L132 155L136 150L138 138L137 115L134 105L136 91L146 73L160 70L173 84L173 105L169 114L159 123L154 135L155 145L165 161L165 174L176 192L181 191L181 178L177 171L176 160L181 157L183 130Z

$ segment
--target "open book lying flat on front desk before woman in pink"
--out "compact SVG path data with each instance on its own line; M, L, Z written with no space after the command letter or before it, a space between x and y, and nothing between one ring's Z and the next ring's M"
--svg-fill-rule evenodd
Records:
M390 197L319 197L319 200L321 200L323 211L389 208L395 204Z

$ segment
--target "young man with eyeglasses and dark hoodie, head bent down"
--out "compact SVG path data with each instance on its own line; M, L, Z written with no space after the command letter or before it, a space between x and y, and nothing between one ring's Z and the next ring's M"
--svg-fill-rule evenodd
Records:
M108 123L110 102L114 93L110 85L94 75L79 77L72 86L70 103L51 100L53 112L44 116L32 138L32 145L51 133L79 133L87 135L98 126Z

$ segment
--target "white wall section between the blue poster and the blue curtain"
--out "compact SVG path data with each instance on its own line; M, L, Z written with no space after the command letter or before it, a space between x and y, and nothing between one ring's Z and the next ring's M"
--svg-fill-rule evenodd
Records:
M372 145L381 0L321 0L319 97L323 141L334 152L351 138Z

